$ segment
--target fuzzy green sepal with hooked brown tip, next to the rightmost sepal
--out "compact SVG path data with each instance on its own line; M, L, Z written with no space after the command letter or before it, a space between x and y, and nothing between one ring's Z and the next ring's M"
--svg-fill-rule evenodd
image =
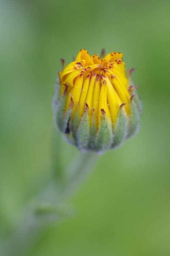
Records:
M114 129L114 142L111 148L117 148L123 144L126 139L128 132L128 116L124 111L124 104L122 104L118 111L118 116L116 119L116 125Z

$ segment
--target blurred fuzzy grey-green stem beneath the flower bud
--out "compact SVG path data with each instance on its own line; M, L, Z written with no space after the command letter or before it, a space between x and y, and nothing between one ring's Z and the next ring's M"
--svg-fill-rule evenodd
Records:
M22 212L24 217L12 236L0 244L0 255L26 255L46 228L68 215L60 211L60 203L77 189L96 160L97 155L92 152L79 153L69 166L65 182L61 186L50 182L40 191L40 194L26 205Z

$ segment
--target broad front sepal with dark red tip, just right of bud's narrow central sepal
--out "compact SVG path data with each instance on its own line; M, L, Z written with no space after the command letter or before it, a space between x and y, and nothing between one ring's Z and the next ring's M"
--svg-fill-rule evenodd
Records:
M108 123L106 112L101 109L101 122L96 135L95 151L103 153L108 150L113 142L111 124Z

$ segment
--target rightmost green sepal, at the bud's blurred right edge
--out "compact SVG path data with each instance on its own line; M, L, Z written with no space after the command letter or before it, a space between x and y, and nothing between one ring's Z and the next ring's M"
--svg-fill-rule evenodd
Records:
M134 136L138 132L140 125L140 113L133 98L131 97L130 102L129 129L127 138Z

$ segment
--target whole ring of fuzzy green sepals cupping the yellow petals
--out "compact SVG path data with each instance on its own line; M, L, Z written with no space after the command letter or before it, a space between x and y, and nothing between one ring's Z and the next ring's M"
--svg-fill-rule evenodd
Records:
M105 110L101 109L101 121L97 127L95 109L89 114L89 107L85 104L83 115L79 116L79 105L77 111L73 114L74 102L71 95L68 94L67 86L63 95L58 99L54 98L54 119L55 124L63 133L64 138L79 150L95 151L99 154L108 149L118 148L123 142L136 134L140 127L141 102L134 89L130 91L130 115L124 110L123 103L117 114L116 123L109 122ZM70 97L70 105L66 110L67 98ZM74 110L75 111L75 110Z

